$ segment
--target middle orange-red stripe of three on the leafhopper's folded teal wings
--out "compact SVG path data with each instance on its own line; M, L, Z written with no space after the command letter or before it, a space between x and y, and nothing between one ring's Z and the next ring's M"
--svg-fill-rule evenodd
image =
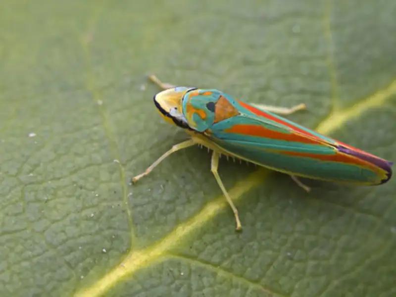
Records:
M302 144L323 145L322 141L308 138L300 134L282 133L257 125L237 124L229 129L226 129L225 132L242 134L247 136L264 137L269 139L285 140Z

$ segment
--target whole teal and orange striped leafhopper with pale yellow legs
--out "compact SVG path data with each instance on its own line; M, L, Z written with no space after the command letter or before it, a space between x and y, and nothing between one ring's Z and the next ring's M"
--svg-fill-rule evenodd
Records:
M155 76L150 79L164 90L153 98L162 117L185 129L191 139L173 146L132 182L177 150L194 145L212 149L211 171L234 211L237 230L242 228L238 210L217 172L221 154L289 174L307 192L310 188L296 176L360 185L384 184L392 176L392 162L276 115L304 109L304 104L292 108L249 104L215 89L176 87Z

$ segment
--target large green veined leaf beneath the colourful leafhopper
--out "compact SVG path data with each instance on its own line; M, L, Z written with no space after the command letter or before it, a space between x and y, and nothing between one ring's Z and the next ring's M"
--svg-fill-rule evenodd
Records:
M396 2L3 0L0 296L396 295L396 179L306 181L222 159L243 232L154 73L396 160Z

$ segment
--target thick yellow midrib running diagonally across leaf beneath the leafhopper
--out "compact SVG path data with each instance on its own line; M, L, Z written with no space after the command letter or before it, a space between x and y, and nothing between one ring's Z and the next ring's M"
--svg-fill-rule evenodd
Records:
M381 106L394 94L396 94L396 80L387 88L378 91L368 98L360 100L351 107L339 111L333 111L317 126L315 130L322 134L330 134L335 130L340 129L347 121L358 118L364 111ZM238 200L252 188L261 185L263 183L263 179L265 179L269 172L269 170L264 168L260 168L253 172L247 178L239 181L229 191L230 196L233 200ZM224 197L217 197L207 203L206 206L191 219L176 227L176 229L170 232L161 241L142 250L136 251L131 248L131 252L128 253L120 265L108 272L90 287L78 291L75 296L101 296L126 276L133 275L136 271L148 267L154 262L160 261L166 255L167 250L180 243L180 241L190 234L190 232L198 229L204 223L212 219L224 207L228 207ZM252 284L252 286L254 286L254 284Z

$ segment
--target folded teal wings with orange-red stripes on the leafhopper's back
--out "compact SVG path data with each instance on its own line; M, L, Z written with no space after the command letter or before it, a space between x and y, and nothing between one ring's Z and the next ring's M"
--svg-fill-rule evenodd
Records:
M228 96L241 113L208 137L231 155L284 173L365 185L385 183L390 162Z

